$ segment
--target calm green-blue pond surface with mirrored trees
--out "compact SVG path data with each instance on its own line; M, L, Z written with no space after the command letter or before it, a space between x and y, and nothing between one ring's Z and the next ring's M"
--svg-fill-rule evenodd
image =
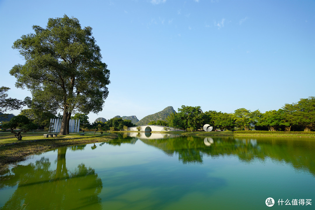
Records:
M34 156L0 183L3 210L269 209L268 197L314 209L315 139L129 133Z

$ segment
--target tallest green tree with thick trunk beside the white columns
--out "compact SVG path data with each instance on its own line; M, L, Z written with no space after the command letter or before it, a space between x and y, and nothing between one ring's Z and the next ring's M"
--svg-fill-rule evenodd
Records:
M50 18L46 28L23 35L13 44L25 59L10 74L18 88L31 90L33 100L63 110L60 135L69 132L73 110L88 114L102 110L110 71L102 62L92 28L83 29L76 18Z

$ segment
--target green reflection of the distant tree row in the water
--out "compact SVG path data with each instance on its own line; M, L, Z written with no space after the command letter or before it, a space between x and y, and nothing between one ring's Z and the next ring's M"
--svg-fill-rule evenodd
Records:
M204 138L180 137L173 139L148 140L141 139L148 145L153 145L163 150L167 155L178 154L183 163L202 163L203 156L237 155L242 162L265 160L272 158L285 161L296 169L307 168L315 175L314 143L309 140L293 140L284 138L251 138L241 139L233 137L216 137L213 143L207 146ZM258 139L258 140L257 140Z

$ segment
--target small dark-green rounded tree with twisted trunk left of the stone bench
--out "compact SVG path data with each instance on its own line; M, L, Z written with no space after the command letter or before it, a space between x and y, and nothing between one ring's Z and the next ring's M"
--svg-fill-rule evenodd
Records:
M21 130L16 133L14 130L19 127ZM14 133L15 138L18 140L22 139L21 132L25 133L29 130L33 130L37 128L37 125L32 123L26 116L18 115L11 118L11 120L3 125L3 128L10 129L11 133Z

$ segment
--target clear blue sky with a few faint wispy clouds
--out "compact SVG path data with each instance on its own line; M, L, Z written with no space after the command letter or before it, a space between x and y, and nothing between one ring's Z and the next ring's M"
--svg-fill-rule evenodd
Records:
M315 95L315 1L1 0L0 85L9 97L31 96L9 75L24 63L13 42L64 14L93 28L111 71L90 122L181 105L265 112Z

